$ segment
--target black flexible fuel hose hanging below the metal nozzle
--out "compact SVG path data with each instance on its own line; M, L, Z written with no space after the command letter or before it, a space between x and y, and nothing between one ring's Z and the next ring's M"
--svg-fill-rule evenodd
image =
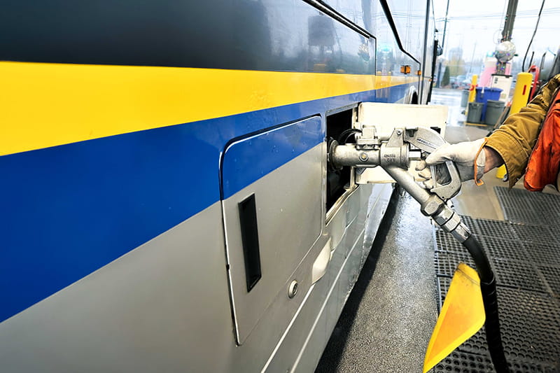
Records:
M490 262L482 246L472 234L463 242L463 246L468 250L472 260L475 261L478 275L480 276L480 290L482 292L482 302L486 313L486 340L490 358L497 373L509 373L507 361L503 352L502 335L500 332L500 319L498 318L498 297L496 294L496 276L490 267Z

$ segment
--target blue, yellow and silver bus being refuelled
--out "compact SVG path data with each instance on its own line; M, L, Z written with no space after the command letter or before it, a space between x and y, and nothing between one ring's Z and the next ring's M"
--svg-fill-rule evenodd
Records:
M312 372L393 192L327 164L426 104L430 1L8 1L2 372Z

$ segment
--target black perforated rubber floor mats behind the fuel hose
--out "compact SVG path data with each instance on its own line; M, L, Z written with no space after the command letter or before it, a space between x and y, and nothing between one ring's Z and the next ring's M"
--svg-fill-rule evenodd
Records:
M515 223L462 218L486 249L496 274L500 326L510 370L519 373L559 372L560 242L553 234L554 223L549 222L554 221L556 211L560 211L551 209L555 204L560 207L560 197L523 197L522 206L534 202L528 199L538 199L538 203L548 204L547 211L550 212L541 210L537 213L533 206L521 213L521 208L515 205L521 194L514 193L514 197L502 193L505 195L502 199L507 202L502 206L507 219ZM549 197L557 201L553 202ZM533 219L533 216L539 216L539 223L524 220ZM543 224L544 221L547 224ZM463 246L449 234L435 228L434 235L434 264L441 307L456 266L459 262L473 264ZM433 371L494 372L484 330L479 330L459 346Z

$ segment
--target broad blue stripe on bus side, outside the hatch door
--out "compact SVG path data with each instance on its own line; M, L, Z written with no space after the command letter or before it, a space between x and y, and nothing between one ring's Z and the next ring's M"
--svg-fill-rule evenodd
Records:
M408 87L0 157L0 322L218 202L230 139L358 101L396 101ZM316 122L310 128L307 148L324 136ZM253 178L229 185L228 195Z

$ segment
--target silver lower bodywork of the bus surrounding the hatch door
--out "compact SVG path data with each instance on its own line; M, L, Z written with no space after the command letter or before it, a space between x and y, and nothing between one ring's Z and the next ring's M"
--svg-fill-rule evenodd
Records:
M304 286L281 333L271 311L235 343L216 203L1 323L1 371L312 372L391 191L360 185L338 206L323 232L338 234L327 272Z

